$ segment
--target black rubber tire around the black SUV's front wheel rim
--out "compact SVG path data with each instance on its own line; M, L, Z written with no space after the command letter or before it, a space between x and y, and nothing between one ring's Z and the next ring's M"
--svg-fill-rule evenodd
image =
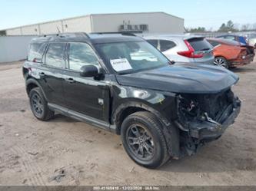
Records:
M137 123L141 127L144 127L146 130L149 131L149 133L151 133L151 136L154 142L155 153L150 160L139 159L137 156L135 156L135 153L133 153L131 151L131 148L128 146L128 141L126 137L127 130L128 130L128 127L130 127L135 123ZM158 127L155 127L155 125L152 125L151 123L149 123L148 120L145 120L144 117L136 116L136 115L129 116L124 120L124 122L121 125L121 141L123 143L125 151L128 153L128 156L130 156L131 159L135 161L135 163L138 163L139 165L145 166L148 168L155 168L161 165L162 161L165 158L164 151L162 150L162 148L164 148L163 141L165 140L161 139L162 136L160 135L159 130L156 129L160 127L161 127L160 123L158 123Z

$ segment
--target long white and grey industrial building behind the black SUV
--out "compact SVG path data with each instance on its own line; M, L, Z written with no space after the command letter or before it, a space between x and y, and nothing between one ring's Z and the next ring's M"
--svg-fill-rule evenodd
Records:
M0 35L47 35L58 32L143 31L183 33L184 19L165 12L92 14L0 31Z

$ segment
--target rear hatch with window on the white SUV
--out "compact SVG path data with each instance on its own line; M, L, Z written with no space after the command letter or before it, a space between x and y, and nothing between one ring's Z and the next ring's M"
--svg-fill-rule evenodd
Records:
M202 64L214 63L213 47L205 38L190 38L188 42L194 48L195 54L203 54L201 58L193 58L194 62Z

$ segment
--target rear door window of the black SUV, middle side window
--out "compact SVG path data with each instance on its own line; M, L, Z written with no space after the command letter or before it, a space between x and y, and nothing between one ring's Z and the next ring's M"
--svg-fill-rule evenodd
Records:
M48 47L48 51L45 55L45 64L48 66L56 67L56 68L64 68L65 67L65 43L55 42L50 43Z

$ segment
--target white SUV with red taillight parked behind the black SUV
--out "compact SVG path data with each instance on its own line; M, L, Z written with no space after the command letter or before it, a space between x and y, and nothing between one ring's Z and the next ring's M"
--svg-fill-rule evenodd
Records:
M200 36L144 35L170 61L178 63L213 64L213 47Z

